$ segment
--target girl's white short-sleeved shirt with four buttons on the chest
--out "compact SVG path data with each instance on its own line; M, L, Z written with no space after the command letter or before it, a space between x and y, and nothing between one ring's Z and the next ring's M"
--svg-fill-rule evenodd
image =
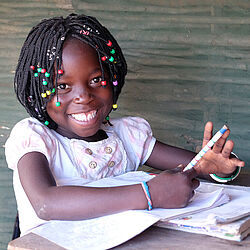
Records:
M149 158L156 139L150 125L139 117L111 120L102 129L108 138L98 142L68 139L35 118L18 122L5 144L8 167L14 170L21 234L46 223L37 217L19 180L17 163L26 153L40 152L48 160L58 186L82 186L91 181L136 171ZM63 204L62 204L63 205Z

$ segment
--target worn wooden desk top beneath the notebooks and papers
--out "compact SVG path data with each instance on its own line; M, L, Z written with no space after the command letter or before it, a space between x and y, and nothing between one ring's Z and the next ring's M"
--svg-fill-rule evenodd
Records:
M242 173L234 184L250 186L250 173ZM8 245L8 250L63 250L64 248L53 242L30 233L13 240ZM145 249L169 249L169 250L234 250L250 249L250 235L242 242L223 240L207 235L186 233L159 227L150 227L133 239L113 249L145 250Z

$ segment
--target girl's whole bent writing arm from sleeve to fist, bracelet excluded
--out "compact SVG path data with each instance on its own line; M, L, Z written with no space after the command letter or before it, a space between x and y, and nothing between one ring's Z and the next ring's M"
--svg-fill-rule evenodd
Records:
M56 186L48 161L39 152L25 154L18 162L18 173L37 216L44 220L81 220L147 208L140 184L110 188ZM195 176L195 171L163 172L148 181L153 207L186 206L199 185Z

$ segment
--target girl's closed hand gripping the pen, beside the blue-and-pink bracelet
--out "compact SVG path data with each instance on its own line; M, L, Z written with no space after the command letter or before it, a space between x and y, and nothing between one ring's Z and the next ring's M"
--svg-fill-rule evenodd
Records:
M153 207L181 208L185 207L199 186L194 169L170 174L164 171L147 182Z

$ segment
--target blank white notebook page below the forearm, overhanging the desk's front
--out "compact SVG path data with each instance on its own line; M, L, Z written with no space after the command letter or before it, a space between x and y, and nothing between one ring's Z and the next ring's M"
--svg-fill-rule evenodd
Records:
M125 211L82 221L49 221L32 230L66 249L109 249L133 238L159 218L138 211Z

